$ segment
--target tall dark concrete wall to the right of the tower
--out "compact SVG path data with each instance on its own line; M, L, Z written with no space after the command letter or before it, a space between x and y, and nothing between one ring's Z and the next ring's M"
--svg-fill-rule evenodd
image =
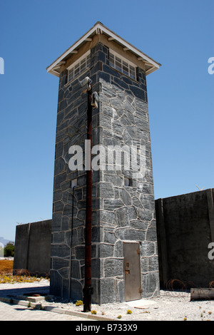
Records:
M214 281L214 189L156 200L161 287L169 281L208 287ZM176 283L178 284L178 282Z

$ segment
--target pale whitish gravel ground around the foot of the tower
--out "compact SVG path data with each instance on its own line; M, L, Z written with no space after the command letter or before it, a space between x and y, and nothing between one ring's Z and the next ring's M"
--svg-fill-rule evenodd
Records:
M52 299L42 304L83 311L71 301ZM160 296L124 303L92 304L91 311L121 321L214 321L214 301L190 301L190 293L161 290ZM130 310L131 314L127 314ZM118 318L118 316L121 316Z

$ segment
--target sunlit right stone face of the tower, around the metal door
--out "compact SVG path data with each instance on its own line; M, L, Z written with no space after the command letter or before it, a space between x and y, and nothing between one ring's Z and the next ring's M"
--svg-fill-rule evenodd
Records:
M123 162L120 170L115 166L108 170L106 165L100 173L100 281L101 302L106 303L125 299L123 241L141 244L142 297L158 293L158 252L146 76L140 68L138 81L124 76L109 66L108 51L97 48L98 58L103 60L98 73L100 142L105 146L146 146L143 178L136 179L134 169L124 170ZM125 186L124 177L130 178L130 186Z

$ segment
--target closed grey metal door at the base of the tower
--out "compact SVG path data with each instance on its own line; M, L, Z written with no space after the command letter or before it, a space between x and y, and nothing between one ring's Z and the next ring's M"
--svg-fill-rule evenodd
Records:
M141 299L140 244L123 242L126 301Z

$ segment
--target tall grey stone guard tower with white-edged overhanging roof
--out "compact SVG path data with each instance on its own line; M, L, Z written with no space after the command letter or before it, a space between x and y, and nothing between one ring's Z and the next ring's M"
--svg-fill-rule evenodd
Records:
M81 170L69 168L73 156L69 148L80 145L85 150L87 94L80 81L86 76L99 96L98 108L93 109L92 145L108 148L106 165L92 172L92 302L158 294L146 75L160 66L97 22L47 68L59 77L51 294L83 299L86 171L84 165ZM139 165L125 166L126 150L118 163L116 145L126 150L144 148L136 151L142 175L136 173Z

